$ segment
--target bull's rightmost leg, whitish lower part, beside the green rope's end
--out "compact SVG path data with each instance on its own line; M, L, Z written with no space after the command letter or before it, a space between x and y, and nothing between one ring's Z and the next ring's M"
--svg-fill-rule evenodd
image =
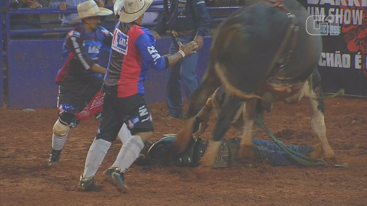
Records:
M323 156L325 161L330 161L335 159L335 155L333 150L331 149L327 139L326 139L326 127L324 121L324 100L323 100L323 92L321 89L321 77L317 72L317 69L312 73L311 77L312 82L310 86L312 89L309 89L310 93L308 94L310 98L310 107L311 107L311 127L313 132L319 136L321 141Z

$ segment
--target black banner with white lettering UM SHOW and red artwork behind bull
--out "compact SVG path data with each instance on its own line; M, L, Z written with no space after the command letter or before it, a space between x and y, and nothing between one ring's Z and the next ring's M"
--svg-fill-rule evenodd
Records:
M367 96L367 0L307 0L307 10L323 35L324 92L344 88L346 94Z

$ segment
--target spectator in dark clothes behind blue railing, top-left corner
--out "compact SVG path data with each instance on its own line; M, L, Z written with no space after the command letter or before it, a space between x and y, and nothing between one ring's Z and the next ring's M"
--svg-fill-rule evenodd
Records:
M41 8L48 7L49 0L10 0L11 8ZM10 28L18 29L42 29L40 16L35 14L11 15ZM14 35L13 38L41 38L42 34Z

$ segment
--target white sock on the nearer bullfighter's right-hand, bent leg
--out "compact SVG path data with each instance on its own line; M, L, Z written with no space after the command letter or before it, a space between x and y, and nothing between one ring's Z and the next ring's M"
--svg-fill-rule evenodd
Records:
M144 143L140 136L131 136L125 144L122 145L112 167L120 168L121 171L128 169L138 157L143 147Z

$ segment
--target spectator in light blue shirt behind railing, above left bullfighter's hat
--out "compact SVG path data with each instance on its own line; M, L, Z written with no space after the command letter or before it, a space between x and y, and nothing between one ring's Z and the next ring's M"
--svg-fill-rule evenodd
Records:
M51 7L59 7L60 10L65 11L67 7L76 7L78 4L83 3L87 0L51 0ZM98 7L105 5L104 0L94 0ZM61 20L61 27L75 27L81 23L81 21L73 22L78 14L60 14L59 19ZM66 33L61 33L60 37L65 37Z

